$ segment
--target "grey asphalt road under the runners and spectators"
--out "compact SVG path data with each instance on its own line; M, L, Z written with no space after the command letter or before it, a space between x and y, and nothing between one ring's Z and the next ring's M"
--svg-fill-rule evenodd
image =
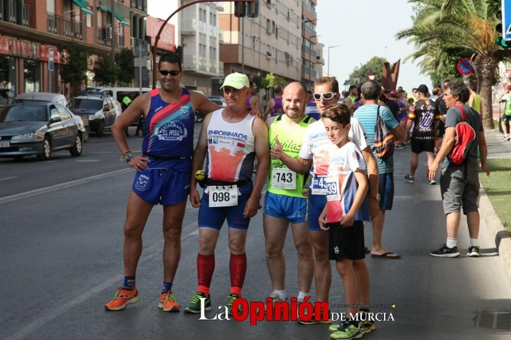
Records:
M196 125L195 135L198 135ZM142 139L130 138L132 150ZM366 258L374 308L392 313L364 336L372 339L508 339L511 331L474 326L478 310L511 309L511 288L495 253L495 242L481 224L483 256L433 258L429 251L445 242L445 217L438 186L428 185L425 156L415 184L402 180L410 150L397 150L396 197L387 214L384 245L403 255L399 260ZM104 304L122 284L122 226L133 171L118 161L110 134L91 136L81 157L67 152L39 162L0 160L0 338L153 339L213 338L311 339L329 336L328 326L294 322L198 321L197 315L165 313L156 308L162 281L161 207L155 207L144 232L137 272L142 301L120 312ZM174 293L184 306L197 285L198 210L190 205L183 222L182 255ZM214 310L229 293L227 233L216 249L212 282ZM371 241L366 225L366 244ZM468 247L462 222L458 246ZM247 241L248 272L243 295L264 301L271 292L266 269L262 212L251 223ZM288 295L298 292L296 255L286 242ZM340 277L333 272L331 303L344 301ZM312 291L314 296L314 290ZM340 311L340 310L337 310ZM208 313L213 315L213 313Z

